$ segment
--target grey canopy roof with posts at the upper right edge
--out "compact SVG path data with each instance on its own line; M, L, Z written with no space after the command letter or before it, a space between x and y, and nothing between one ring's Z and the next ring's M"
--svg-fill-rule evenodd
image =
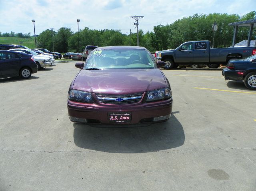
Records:
M232 47L234 47L234 45L236 44L236 35L237 35L237 32L238 32L238 26L240 26L240 27L250 27L249 34L248 34L247 47L250 46L250 42L251 42L251 39L252 39L252 31L253 31L253 28L256 27L256 19L234 22L234 23L228 24L228 26L233 26L234 27L234 36L233 36ZM256 41L255 41L255 43L256 43ZM255 44L255 46L256 46L256 44Z

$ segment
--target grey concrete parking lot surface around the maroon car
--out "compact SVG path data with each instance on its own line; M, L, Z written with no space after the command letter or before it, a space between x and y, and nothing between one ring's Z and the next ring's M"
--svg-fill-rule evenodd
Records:
M0 79L0 191L256 190L256 91L219 69L163 70L168 122L95 128L68 118L76 62Z

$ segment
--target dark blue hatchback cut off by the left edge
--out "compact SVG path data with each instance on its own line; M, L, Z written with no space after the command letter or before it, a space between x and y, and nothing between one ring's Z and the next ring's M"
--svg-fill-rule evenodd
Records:
M0 51L0 78L20 76L28 79L37 72L33 55L16 52Z

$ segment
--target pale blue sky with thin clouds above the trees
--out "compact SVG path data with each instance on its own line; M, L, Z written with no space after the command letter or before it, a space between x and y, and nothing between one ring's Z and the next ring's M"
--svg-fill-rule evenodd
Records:
M144 16L139 29L145 33L194 14L227 13L240 16L256 10L256 0L0 0L0 32L34 33L61 27L120 29L136 32L131 16Z

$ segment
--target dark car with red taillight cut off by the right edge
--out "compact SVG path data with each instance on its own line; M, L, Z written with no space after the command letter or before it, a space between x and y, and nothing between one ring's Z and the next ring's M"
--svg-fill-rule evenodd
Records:
M225 80L244 81L248 89L256 90L256 54L246 59L228 61L222 75Z

